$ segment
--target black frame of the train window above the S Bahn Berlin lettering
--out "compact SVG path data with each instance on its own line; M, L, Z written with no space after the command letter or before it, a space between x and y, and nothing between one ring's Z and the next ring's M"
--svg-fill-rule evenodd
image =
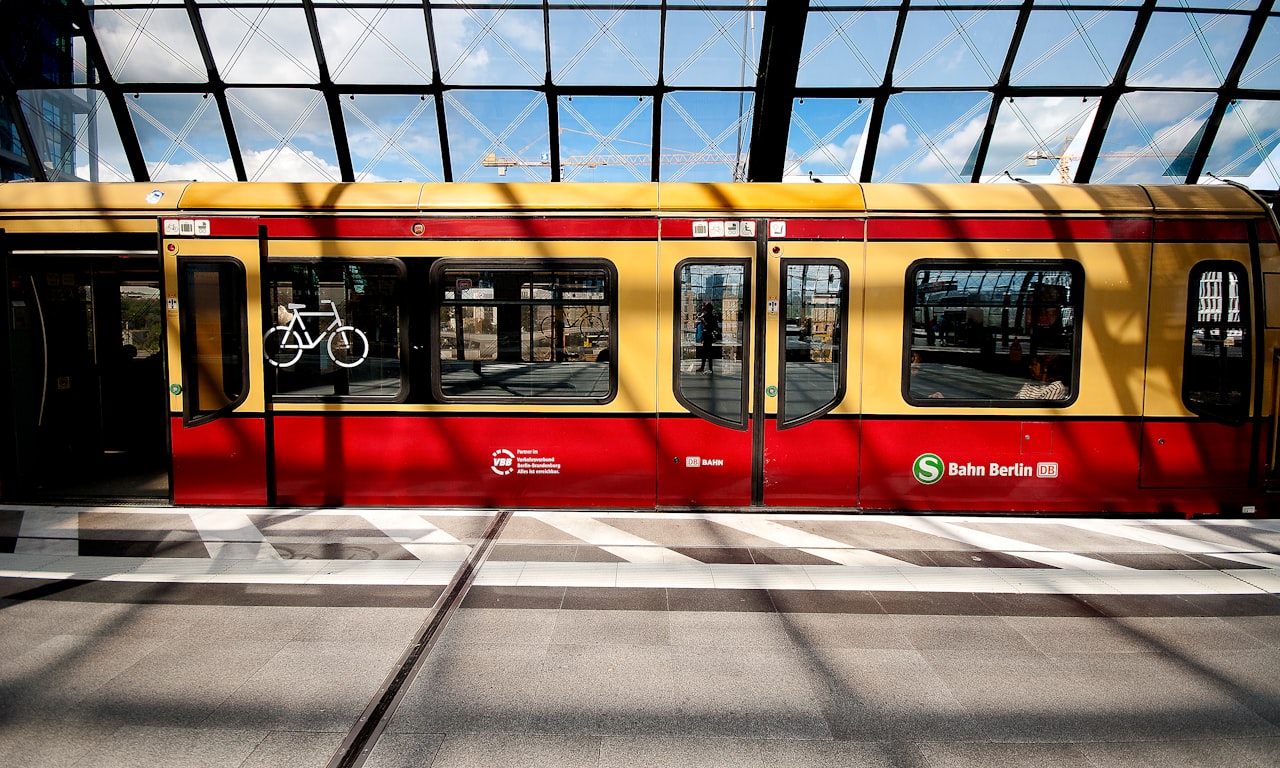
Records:
M1016 273L1069 273L1071 276L1071 297L1064 307L1071 308L1073 333L1070 339L1070 366L1066 369L1064 381L1069 384L1068 396L1061 399L1019 399L1019 398L933 398L911 394L911 348L914 340L914 315L916 310L915 292L916 275L922 270L969 270L969 271L1016 271ZM1080 346L1084 338L1085 317L1085 273L1084 265L1074 259L946 259L925 257L918 259L908 265L904 274L902 298L902 374L901 393L902 399L910 404L923 408L1069 408L1080 397ZM984 326L986 328L986 326ZM1025 353L1025 360L1030 361L1030 349Z

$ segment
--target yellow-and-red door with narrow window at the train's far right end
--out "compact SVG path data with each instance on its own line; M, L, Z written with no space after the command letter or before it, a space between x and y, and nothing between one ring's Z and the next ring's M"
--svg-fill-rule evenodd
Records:
M1240 512L1211 489L1260 483L1258 229L1208 219L1194 191L1148 192L1157 220L1140 485L1183 489L1171 512ZM1240 202L1239 212L1257 212L1243 192Z

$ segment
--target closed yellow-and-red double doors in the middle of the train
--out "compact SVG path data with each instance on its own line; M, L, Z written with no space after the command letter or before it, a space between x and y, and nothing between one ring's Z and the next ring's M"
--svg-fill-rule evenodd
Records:
M787 227L796 237L804 223L768 220L692 221L682 239L673 224L659 259L669 399L658 420L658 503L855 506L847 383L861 224L845 224L854 242L790 239Z

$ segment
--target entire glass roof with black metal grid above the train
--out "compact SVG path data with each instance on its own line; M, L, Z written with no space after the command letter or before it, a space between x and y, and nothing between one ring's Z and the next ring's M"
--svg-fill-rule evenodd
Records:
M1275 0L0 8L4 179L1280 179Z

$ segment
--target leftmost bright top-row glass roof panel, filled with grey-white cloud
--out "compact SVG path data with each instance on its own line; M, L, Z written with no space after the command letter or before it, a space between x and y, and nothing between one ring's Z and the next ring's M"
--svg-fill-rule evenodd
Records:
M92 12L93 32L116 82L202 83L209 79L183 8Z

